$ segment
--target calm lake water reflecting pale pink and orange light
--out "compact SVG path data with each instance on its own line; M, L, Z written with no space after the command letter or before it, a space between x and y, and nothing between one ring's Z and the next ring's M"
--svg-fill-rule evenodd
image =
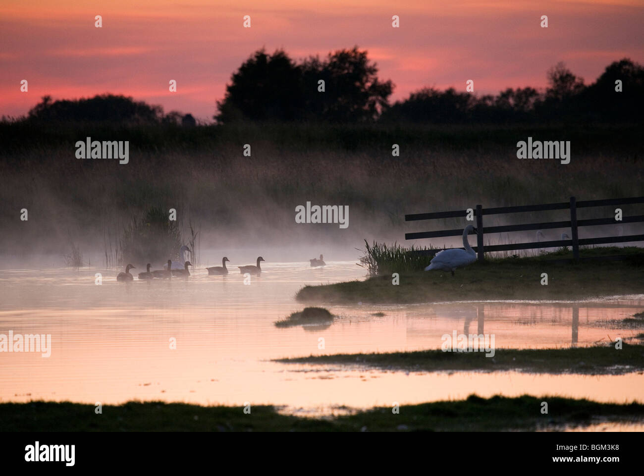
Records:
M250 263L250 262L249 262ZM355 262L263 263L261 278L208 276L118 283L121 270L0 271L0 334L51 334L51 356L0 354L0 400L122 403L131 399L202 405L282 405L301 415L483 397L562 395L644 402L641 373L620 376L520 372L432 373L285 365L279 357L440 348L441 336L495 334L497 348L587 346L641 330L611 323L644 309L644 296L531 303L330 306L328 326L276 328L304 306L305 284L363 279ZM247 264L247 263L243 263ZM220 263L213 263L220 265ZM144 271L144 270L134 270ZM102 285L95 285L101 272ZM136 274L136 273L135 273ZM384 312L384 316L372 316ZM319 349L319 338L325 348ZM170 348L176 339L176 349ZM606 426L605 428L614 428ZM601 425L600 428L601 430ZM629 428L634 429L634 428Z

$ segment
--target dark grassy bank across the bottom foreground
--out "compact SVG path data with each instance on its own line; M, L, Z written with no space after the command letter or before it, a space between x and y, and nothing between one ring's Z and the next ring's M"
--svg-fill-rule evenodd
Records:
M548 403L549 414L540 410ZM198 406L182 403L128 402L106 405L95 414L93 405L78 403L2 403L4 432L390 432L390 431L503 431L558 430L601 421L641 421L644 405L596 403L560 397L483 399L470 395L462 401L439 401L392 408L373 408L354 415L327 419L280 415L273 406Z

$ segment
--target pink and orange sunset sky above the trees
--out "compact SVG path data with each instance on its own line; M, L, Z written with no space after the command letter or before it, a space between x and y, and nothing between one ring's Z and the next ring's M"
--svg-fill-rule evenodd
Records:
M468 79L479 94L540 88L558 61L589 83L611 61L644 62L643 25L641 0L3 0L0 115L43 95L109 92L211 120L231 73L261 47L301 59L357 44L396 85L393 100L424 86L464 91Z

